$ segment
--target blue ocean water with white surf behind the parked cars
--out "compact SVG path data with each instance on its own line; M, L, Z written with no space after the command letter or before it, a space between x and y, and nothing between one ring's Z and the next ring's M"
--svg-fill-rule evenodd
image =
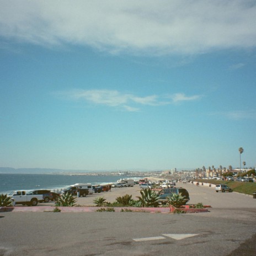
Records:
M62 175L62 174L0 174L0 193L13 190L63 189L76 183L114 183L127 176L113 175ZM131 177L130 177L131 178Z

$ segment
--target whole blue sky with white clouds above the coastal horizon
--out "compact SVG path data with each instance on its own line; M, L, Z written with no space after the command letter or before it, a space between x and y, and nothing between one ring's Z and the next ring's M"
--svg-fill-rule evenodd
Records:
M255 1L1 1L0 166L254 167Z

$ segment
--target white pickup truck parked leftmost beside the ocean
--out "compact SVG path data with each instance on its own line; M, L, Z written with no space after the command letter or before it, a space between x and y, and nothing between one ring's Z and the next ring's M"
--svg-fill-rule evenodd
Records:
M29 191L25 190L12 191L8 196L13 199L15 205L36 206L38 202L44 201L43 195L29 195Z

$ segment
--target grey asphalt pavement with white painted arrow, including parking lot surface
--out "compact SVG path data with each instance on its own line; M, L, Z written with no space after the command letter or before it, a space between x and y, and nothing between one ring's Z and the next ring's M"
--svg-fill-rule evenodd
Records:
M177 185L188 189L189 203L212 208L200 214L2 212L0 255L255 255L256 199ZM135 186L99 196L122 193L140 191ZM79 198L79 204L95 196Z

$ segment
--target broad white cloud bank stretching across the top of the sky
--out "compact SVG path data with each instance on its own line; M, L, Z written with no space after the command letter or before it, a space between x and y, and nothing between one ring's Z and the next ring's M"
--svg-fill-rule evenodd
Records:
M256 2L1 1L0 36L133 54L199 54L256 46Z

